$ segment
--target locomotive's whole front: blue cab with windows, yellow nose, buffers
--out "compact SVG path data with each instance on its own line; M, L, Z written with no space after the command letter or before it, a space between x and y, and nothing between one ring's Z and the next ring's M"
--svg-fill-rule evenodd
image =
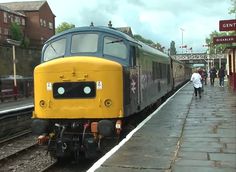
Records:
M129 98L125 38L110 28L82 27L45 43L34 70L32 129L54 157L94 157L102 143L119 138Z

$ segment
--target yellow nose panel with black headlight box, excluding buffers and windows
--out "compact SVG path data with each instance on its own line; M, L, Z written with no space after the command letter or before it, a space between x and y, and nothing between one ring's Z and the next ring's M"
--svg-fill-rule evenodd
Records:
M122 66L96 57L68 57L35 68L38 119L96 119L123 116Z

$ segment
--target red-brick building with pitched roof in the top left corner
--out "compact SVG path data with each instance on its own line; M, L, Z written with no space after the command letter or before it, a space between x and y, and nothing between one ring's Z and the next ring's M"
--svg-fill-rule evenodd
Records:
M18 23L30 47L42 44L55 34L55 15L47 1L0 3L0 45L11 38L11 24Z

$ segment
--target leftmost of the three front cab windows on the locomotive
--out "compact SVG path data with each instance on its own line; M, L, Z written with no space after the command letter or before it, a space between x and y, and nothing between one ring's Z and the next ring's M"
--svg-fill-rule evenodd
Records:
M60 39L49 43L44 51L44 61L52 60L57 57L62 57L65 54L66 39Z

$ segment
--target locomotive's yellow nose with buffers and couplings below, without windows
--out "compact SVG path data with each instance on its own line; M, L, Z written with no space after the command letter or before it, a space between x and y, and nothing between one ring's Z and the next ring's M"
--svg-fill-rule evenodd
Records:
M33 131L54 157L97 155L123 117L122 66L97 57L65 57L34 71Z

